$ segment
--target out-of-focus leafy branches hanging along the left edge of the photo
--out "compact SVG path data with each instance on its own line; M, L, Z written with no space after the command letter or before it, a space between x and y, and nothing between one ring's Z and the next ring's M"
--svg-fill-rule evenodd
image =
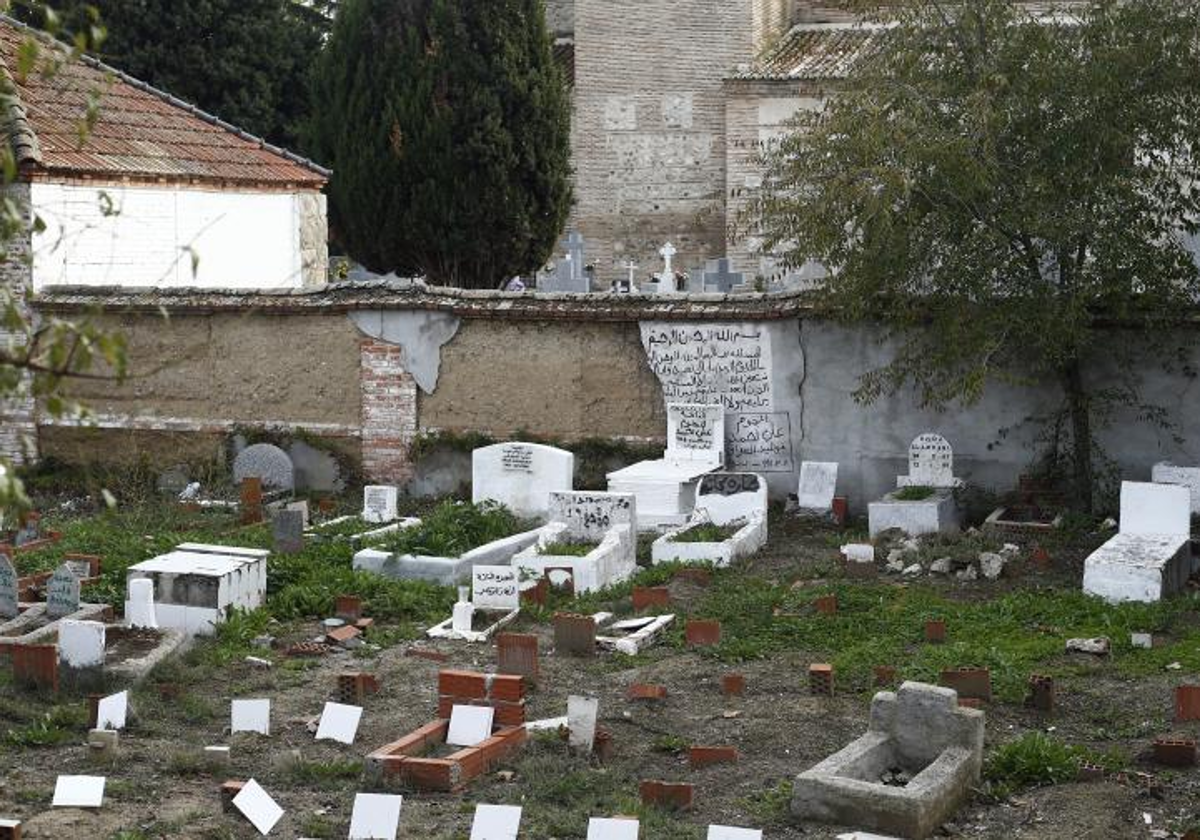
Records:
M17 66L8 67L13 78L41 73L52 76L66 61L96 43L101 31L86 25L74 34L55 31L73 44L62 50L47 50L34 37L26 38ZM10 112L16 91L7 77L0 77L0 110ZM79 114L85 136L95 114ZM43 227L40 218L11 188L18 180L17 160L11 143L0 144L0 263L28 263L32 257L28 242ZM97 202L102 200L97 194ZM54 416L82 413L82 407L62 396L66 379L103 376L120 379L125 374L125 340L101 330L86 319L66 320L36 314L31 289L14 287L0 278L0 406L12 400L32 397L42 410ZM94 373L103 367L106 372ZM0 457L0 523L28 505L24 488L12 464Z

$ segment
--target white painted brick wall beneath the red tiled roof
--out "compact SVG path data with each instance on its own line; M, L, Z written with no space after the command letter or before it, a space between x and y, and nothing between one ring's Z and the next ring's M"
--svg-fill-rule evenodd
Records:
M302 217L324 215L324 197L305 193L35 182L31 198L46 222L34 236L35 290L299 288Z

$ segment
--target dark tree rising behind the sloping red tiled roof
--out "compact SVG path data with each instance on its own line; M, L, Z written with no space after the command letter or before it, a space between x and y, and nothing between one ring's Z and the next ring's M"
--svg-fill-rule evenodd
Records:
M310 110L311 70L328 32L328 0L64 0L25 2L36 26L108 30L98 58L287 148Z

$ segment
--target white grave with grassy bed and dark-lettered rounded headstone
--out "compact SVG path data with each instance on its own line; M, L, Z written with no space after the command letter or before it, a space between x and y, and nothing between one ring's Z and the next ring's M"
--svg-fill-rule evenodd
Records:
M722 540L694 541L689 532L724 528ZM709 473L700 480L696 509L688 523L654 540L655 564L671 560L727 566L767 542L767 481L755 473Z

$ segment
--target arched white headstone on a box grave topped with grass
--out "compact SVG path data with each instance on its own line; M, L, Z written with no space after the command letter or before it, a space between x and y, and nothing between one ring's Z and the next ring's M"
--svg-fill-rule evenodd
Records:
M868 505L869 530L877 536L896 528L911 536L953 534L960 528L954 491L954 450L941 434L919 434L908 446L908 474L896 476L896 490Z

